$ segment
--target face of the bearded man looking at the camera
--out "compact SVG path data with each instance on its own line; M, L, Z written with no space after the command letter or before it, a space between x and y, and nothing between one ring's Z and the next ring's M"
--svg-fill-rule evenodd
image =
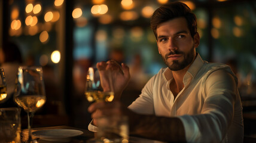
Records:
M190 35L187 20L174 18L157 26L157 46L159 54L170 70L178 71L189 66L196 57L199 34Z

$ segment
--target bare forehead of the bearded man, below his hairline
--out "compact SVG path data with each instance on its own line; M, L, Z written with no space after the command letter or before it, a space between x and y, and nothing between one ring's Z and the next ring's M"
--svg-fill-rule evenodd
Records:
M184 17L173 18L172 20L161 23L156 29L157 35L161 35L166 32L174 34L180 31L187 31L190 33L187 20Z

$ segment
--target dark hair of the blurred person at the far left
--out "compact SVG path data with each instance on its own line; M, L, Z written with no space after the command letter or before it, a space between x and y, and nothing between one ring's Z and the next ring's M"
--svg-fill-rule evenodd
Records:
M18 62L22 63L22 54L16 43L8 42L3 45L4 62Z

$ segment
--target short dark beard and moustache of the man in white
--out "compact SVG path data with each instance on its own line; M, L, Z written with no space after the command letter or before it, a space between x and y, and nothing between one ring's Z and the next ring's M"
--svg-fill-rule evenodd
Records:
M184 57L184 59L182 61L173 60L172 63L168 63L167 58L169 57L169 55L174 55L174 54L181 54ZM185 52L176 50L176 51L170 51L168 54L164 56L161 55L161 57L163 58L164 63L166 64L167 67L169 67L170 70L178 71L178 70L184 69L189 64L191 64L195 57L194 55L195 55L194 48L191 48L190 52L188 52L187 54Z

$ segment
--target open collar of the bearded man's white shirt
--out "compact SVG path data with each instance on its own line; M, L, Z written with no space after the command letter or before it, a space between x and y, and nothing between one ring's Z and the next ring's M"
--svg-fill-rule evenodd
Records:
M199 53L197 52L196 53L196 59L193 61L193 63L191 64L190 68L188 69L187 73L185 74L184 80L188 78L188 74L190 74L192 79L194 79L194 77L196 76L197 72L203 66L203 63L204 63L204 61L202 60L202 58L200 57ZM166 80L166 81L172 79L173 78L172 70L170 70L169 68L166 68L163 71L163 77L164 77L164 80Z

